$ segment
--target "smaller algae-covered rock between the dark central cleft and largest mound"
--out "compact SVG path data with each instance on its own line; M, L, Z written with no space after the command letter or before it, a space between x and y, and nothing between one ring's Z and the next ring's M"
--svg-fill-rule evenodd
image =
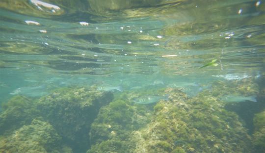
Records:
M116 99L102 107L91 126L91 149L87 153L132 153L136 142L132 131L149 123L150 109L133 105L128 99Z

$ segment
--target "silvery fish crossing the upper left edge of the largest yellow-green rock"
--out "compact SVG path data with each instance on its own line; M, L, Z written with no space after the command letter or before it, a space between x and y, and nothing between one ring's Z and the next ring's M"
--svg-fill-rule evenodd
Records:
M155 103L159 102L160 100L168 100L168 95L145 95L141 96L137 99L134 99L133 102L138 103L138 104L149 104L149 103Z

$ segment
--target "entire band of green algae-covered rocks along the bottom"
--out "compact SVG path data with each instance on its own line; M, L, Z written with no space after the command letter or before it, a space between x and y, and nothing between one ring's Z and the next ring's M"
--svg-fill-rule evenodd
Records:
M97 86L58 88L34 100L14 96L2 105L0 152L262 153L265 112L246 112L255 116L252 132L250 118L234 107L260 99L222 101L226 95L259 94L247 78L216 81L194 97L182 88L107 92ZM167 98L134 102L145 95Z

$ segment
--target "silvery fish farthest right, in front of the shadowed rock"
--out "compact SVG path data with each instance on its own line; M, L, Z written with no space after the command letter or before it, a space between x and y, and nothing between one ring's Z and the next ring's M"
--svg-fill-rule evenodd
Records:
M224 102L245 102L245 101L251 101L251 102L257 102L256 96L238 96L238 95L227 95L221 99Z

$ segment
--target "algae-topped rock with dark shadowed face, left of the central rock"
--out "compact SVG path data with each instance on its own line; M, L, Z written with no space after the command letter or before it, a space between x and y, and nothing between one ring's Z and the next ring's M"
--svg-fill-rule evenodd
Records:
M90 147L89 130L100 107L113 99L111 92L96 88L62 88L37 102L37 109L76 152Z

